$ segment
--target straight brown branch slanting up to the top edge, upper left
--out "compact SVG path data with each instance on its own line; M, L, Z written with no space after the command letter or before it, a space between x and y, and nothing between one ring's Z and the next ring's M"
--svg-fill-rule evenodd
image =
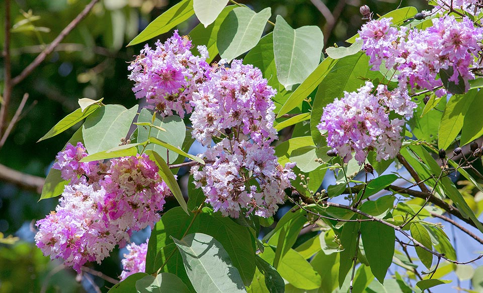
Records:
M92 10L94 5L98 3L99 0L92 0L84 10L79 13L61 32L60 34L50 43L36 58L32 61L20 75L12 80L12 85L15 86L23 81L31 72L55 49L55 47L60 44L60 42L68 35L78 24L83 20L89 12Z

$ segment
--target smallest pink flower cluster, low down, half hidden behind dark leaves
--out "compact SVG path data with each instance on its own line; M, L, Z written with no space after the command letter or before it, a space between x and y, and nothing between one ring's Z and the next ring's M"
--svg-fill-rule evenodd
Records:
M146 240L145 243L141 243L139 245L131 243L126 246L129 253L124 254L124 259L121 260L121 281L132 274L139 272L142 273L146 271L146 254L148 241L149 239Z

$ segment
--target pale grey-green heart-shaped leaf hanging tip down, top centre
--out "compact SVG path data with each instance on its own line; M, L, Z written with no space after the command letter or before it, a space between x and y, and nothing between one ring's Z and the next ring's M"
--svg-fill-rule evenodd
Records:
M273 30L273 52L279 82L288 88L301 84L317 67L324 35L316 26L303 26L292 29L277 15Z

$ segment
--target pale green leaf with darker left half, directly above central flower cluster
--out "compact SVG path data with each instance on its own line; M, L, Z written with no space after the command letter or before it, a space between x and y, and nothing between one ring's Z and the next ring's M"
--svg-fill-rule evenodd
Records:
M259 13L247 7L230 11L218 31L216 45L221 58L231 60L255 47L271 15L270 8Z

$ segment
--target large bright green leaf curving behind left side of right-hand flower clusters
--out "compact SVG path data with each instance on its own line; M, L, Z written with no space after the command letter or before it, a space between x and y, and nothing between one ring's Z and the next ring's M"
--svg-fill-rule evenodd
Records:
M382 80L382 75L380 72L370 70L369 57L359 52L339 59L322 80L313 101L310 117L310 132L317 146L325 144L325 139L321 140L320 131L317 129L324 107L334 102L334 99L343 97L344 91L353 92L359 89L365 83L364 78ZM324 142L317 144L319 141Z

